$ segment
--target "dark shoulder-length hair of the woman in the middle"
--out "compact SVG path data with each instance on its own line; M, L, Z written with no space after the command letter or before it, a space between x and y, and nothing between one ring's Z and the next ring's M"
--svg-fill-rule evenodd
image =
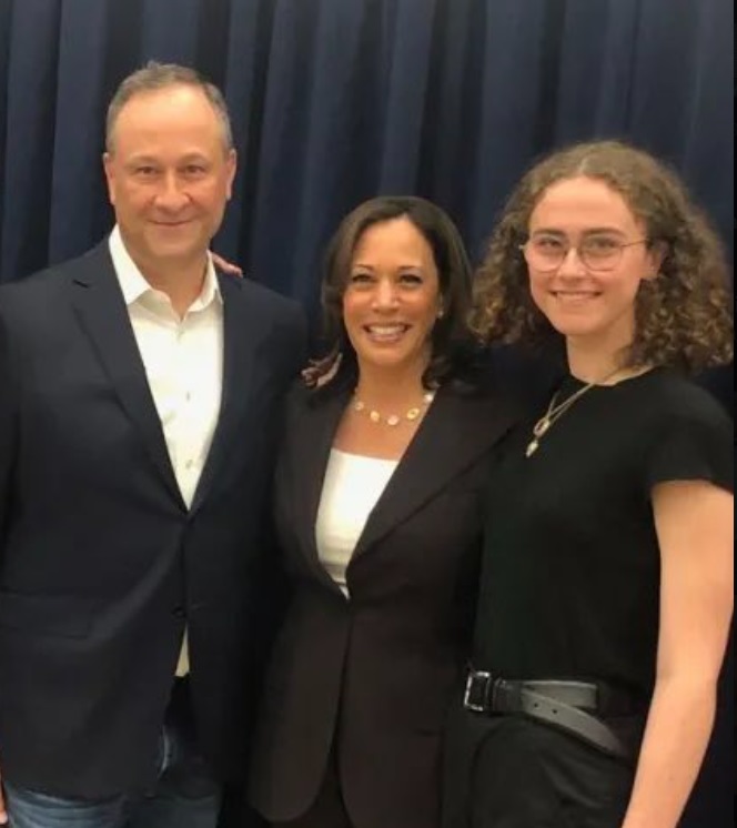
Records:
M431 334L431 359L422 381L437 387L460 378L472 350L467 326L472 270L461 234L437 205L413 195L382 195L349 213L331 239L324 261L321 302L323 336L327 353L305 372L309 385L330 382L342 387L357 378L356 355L343 323L343 294L351 274L354 251L363 233L374 224L406 218L430 244L437 267L443 315Z

